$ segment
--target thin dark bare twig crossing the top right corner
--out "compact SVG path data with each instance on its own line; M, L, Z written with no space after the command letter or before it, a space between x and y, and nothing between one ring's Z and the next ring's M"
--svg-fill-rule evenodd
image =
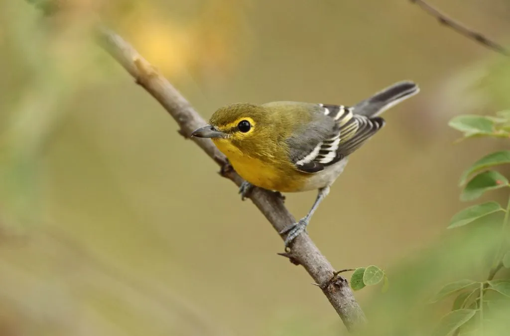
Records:
M484 46L486 46L489 49L492 49L496 51L497 53L500 53L504 56L510 56L510 51L503 47L501 44L494 42L493 40L483 36L482 34L475 32L474 30L466 27L461 22L455 21L454 19L450 18L448 15L441 13L439 10L437 10L435 7L430 6L428 3L426 3L423 0L410 0L413 4L418 5L421 9L423 9L428 14L432 15L436 19L438 19L439 23L446 25L446 27L449 27L453 29L455 32L464 35L465 37L474 40Z

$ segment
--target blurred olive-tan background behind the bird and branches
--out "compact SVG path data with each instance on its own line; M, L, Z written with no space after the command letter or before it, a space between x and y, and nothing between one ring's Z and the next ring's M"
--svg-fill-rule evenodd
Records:
M435 3L510 38L506 0ZM404 0L63 6L74 10L48 19L27 2L0 2L0 334L345 333L309 275L276 255L283 242L265 218L93 43L92 12L206 119L232 102L353 105L416 81L421 93L385 113L384 131L353 154L309 233L334 267L375 264L392 289L416 260L428 268L415 279L432 289L462 272L486 276L476 251L457 265L441 248L465 206L461 172L508 142L454 145L460 134L447 122L509 106L507 59ZM300 218L316 194L286 196ZM453 255L465 253L468 242L455 239ZM355 296L376 307L379 292Z

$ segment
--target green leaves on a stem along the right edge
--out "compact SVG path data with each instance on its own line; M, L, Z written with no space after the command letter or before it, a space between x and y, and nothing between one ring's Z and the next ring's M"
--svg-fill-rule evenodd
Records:
M496 116L462 115L453 118L449 125L463 132L462 139L491 137L510 139L510 111L501 111ZM508 178L494 170L510 163L510 150L490 153L473 163L461 175L459 185L463 187L462 201L473 201L484 193L510 187ZM445 285L431 302L438 302L456 295L451 312L446 314L435 329L435 335L483 334L484 324L493 315L491 309L501 302L510 303L510 279L494 280L502 268L510 268L510 245L508 244L510 195L508 205L503 208L496 201L471 205L455 214L448 228L457 228L471 223L482 223L488 215L502 212L502 235L495 241L497 252L494 255L491 271L486 280L462 279ZM480 220L480 221L478 221Z

